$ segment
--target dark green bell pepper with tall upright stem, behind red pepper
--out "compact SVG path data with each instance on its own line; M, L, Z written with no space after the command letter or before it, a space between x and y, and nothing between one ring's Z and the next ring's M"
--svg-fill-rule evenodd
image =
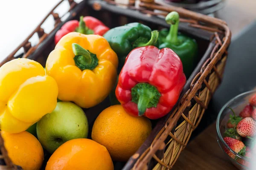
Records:
M183 71L188 78L195 68L198 57L198 44L195 39L178 34L179 14L175 11L166 16L166 23L170 24L169 30L159 32L159 49L171 48L181 59Z

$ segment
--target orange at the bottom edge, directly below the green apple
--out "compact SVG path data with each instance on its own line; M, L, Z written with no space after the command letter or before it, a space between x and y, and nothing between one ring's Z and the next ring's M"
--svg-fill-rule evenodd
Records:
M45 170L113 170L106 147L90 139L72 139L52 154Z

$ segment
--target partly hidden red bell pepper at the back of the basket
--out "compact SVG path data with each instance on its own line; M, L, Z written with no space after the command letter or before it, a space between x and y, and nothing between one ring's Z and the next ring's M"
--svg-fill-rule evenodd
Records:
M81 34L96 34L103 36L109 28L105 26L100 20L86 16L80 17L78 20L70 20L59 29L55 34L55 45L61 38L70 32L80 32Z

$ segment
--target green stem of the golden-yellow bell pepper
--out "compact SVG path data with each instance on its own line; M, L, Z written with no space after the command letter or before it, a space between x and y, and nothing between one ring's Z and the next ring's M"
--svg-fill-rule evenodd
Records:
M96 54L90 53L90 51L82 48L79 44L73 43L72 50L75 54L75 64L81 71L86 69L93 70L99 64Z

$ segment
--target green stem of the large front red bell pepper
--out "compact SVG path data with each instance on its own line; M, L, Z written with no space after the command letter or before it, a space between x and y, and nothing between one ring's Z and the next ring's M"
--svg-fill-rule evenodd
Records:
M132 102L138 105L138 115L142 116L147 108L156 108L161 94L153 85L138 83L131 89Z

